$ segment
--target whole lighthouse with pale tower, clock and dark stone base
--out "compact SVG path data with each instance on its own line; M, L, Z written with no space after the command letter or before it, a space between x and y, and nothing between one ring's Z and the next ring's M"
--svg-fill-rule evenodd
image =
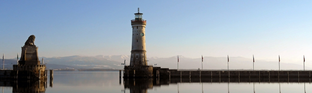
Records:
M124 66L124 78L151 78L153 77L153 66L147 65L145 47L146 20L142 19L142 13L134 14L131 20L132 44L130 65Z

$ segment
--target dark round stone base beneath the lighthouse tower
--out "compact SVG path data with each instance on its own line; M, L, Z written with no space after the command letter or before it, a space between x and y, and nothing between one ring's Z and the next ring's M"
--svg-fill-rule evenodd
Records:
M124 78L152 78L153 66L124 66Z

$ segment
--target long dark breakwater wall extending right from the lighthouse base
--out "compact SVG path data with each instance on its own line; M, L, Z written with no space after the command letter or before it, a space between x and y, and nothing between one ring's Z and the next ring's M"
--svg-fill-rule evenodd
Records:
M156 77L311 78L311 71L177 71L176 69L155 70L154 76Z

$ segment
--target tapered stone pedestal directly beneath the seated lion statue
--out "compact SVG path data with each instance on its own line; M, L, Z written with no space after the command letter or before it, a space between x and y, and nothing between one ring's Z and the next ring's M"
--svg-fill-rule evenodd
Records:
M20 61L18 61L20 65L40 65L40 61L38 59L38 47L36 46L24 46L22 47L22 55Z

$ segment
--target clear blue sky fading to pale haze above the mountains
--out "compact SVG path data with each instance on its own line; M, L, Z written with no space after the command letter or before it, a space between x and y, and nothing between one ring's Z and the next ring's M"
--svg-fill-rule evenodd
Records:
M130 55L140 8L148 57L312 59L310 0L0 1L0 54L16 58L30 35L38 55Z

